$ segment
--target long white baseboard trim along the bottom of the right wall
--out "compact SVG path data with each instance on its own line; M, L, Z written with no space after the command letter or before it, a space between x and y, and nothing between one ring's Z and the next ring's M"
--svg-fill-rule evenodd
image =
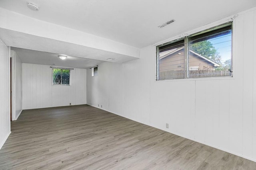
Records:
M138 122L138 123L142 123L142 124L144 124L144 125L148 125L148 126L154 127L154 128L156 128L156 129L160 129L160 130L162 130L162 131L166 131L166 129L162 129L162 128L160 128L160 127L156 127L156 126L150 125L150 124L145 123L145 122L140 122L140 121L131 119L130 117L127 117L127 116L124 116L124 115L120 115L120 114L118 114L118 113L114 113L114 112L112 112L112 111L109 111L109 110L107 110L107 109L103 109L103 108L101 108L101 107L93 106L93 105L90 105L90 104L87 104L87 105L92 106L92 107L96 107L96 108L98 108L98 109L102 109L102 110L108 111L108 112L113 113L113 114L115 114L115 115L119 115L119 116L125 117L125 118L127 118L127 119L130 119L130 120L132 120L132 121L136 121L136 122ZM236 152L232 152L231 150L227 150L227 149L223 149L223 148L220 148L220 147L216 147L216 146L214 146L214 145L210 145L210 144L204 143L204 142L202 142L202 141L197 141L197 140L192 139L192 138L190 138L190 137L185 137L185 136L180 135L180 134L178 134L178 133L173 133L172 131L166 131L166 132L172 133L172 134L174 134L174 135L177 135L177 136L180 136L180 137L184 137L184 138L189 139L189 140L191 140L191 141L195 141L195 142L198 142L198 143L202 143L202 144L207 145L207 146L209 146L209 147L213 147L213 148L216 148L216 149L220 149L220 150L225 151L225 152L228 152L228 153L230 153L230 154L234 154L234 155L236 155L236 156L240 156L240 157L242 157L242 158L245 158L245 159L248 159L248 160L251 160L251 161L256 162L256 159L254 159L254 158L250 158L250 157L248 157L248 156L244 156L244 155L242 155L242 154L238 154L238 153L236 153Z

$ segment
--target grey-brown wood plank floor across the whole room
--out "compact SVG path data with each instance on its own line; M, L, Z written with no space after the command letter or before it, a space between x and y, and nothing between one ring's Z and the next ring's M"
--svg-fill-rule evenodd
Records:
M22 111L5 169L256 169L256 162L88 105Z

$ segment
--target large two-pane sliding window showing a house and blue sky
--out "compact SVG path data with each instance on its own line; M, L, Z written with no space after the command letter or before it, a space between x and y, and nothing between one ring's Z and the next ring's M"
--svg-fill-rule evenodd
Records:
M232 23L157 46L156 79L232 76Z

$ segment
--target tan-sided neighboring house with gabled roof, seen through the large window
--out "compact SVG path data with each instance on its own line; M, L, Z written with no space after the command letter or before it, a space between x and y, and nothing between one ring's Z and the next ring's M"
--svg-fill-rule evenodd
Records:
M159 56L159 72L184 70L184 47L164 51ZM220 64L189 51L188 70L215 70Z

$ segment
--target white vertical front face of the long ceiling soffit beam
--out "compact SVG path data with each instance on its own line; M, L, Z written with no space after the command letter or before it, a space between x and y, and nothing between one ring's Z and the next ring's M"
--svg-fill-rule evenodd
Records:
M0 28L140 58L140 49L0 8ZM85 24L86 25L86 24ZM12 46L12 44L8 44Z

